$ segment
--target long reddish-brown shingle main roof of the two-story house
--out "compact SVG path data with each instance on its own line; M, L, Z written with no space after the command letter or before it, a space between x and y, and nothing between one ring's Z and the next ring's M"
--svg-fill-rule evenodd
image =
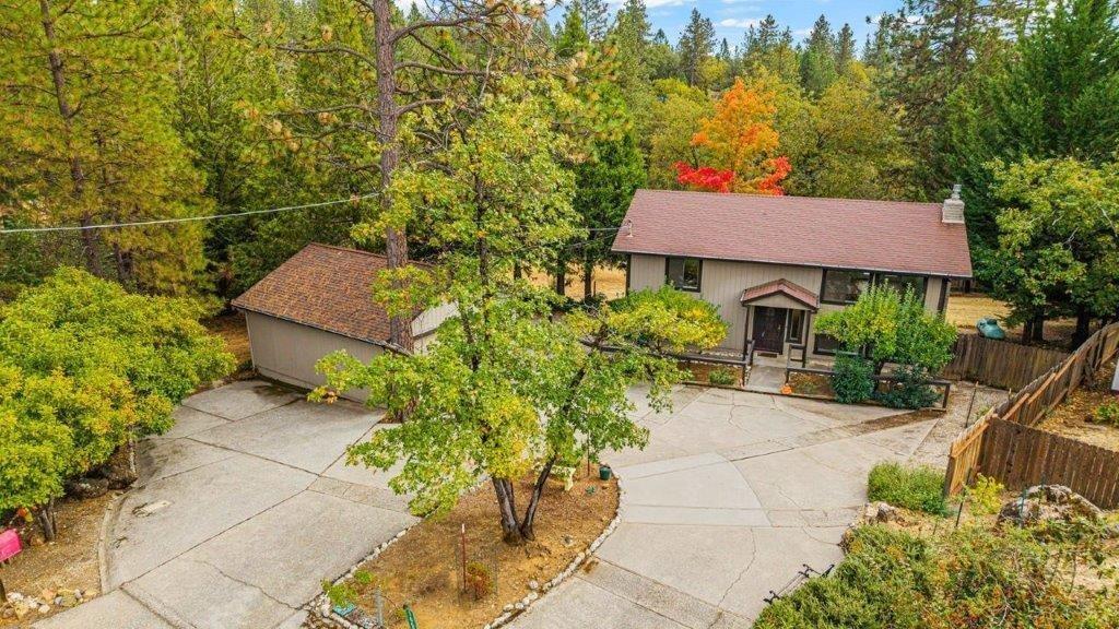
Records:
M971 276L940 204L638 190L626 222L618 253Z

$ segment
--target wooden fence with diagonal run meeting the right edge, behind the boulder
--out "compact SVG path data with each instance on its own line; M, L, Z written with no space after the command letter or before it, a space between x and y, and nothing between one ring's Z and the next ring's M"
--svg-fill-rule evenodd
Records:
M1117 348L1119 323L1111 323L960 433L948 453L946 494L960 491L982 473L1012 489L1059 482L1100 507L1119 506L1119 452L1034 428L1087 378L1094 377Z

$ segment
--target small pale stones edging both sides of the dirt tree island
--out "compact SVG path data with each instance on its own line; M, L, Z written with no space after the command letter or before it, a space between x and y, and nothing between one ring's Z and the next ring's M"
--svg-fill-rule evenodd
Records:
M560 572L560 574L556 574L554 578L552 578L551 581L547 581L544 584L542 584L538 592L532 591L528 594L525 594L525 597L519 601L517 601L516 603L506 604L501 613L497 618L491 620L489 623L487 623L482 629L498 629L498 627L504 627L505 625L508 625L513 619L517 618L518 616L527 611L533 603L540 600L543 594L547 593L556 585L560 585L561 583L570 579L571 575L574 574L576 570L579 570L584 563L586 563L587 558L594 555L594 552L599 550L599 546L601 546L602 543L605 542L606 537L609 537L610 534L613 533L615 528L618 528L618 523L621 519L622 498L626 495L626 490L622 488L621 477L614 475L614 479L618 482L618 510L614 513L614 517L613 519L610 520L610 524L608 524L606 527L602 529L602 533L594 539L594 542L591 542L586 551L583 551L580 554L575 555L575 558L573 558L570 564L567 564L567 567L563 569L563 571ZM476 490L477 488L474 489L474 491ZM401 541L404 537L404 535L412 529L412 527L419 526L423 522L424 520L420 520L415 524L408 525L404 527L399 533L397 533L392 539L380 543L376 548L373 550L372 553L366 555L365 558L352 565L346 572L346 574L336 579L332 582L332 584L338 585L342 581L352 578L354 573L357 572L358 567L376 558L377 555L385 552L385 548L388 548L396 542ZM330 605L330 599L327 597L326 593L319 594L318 597L312 599L311 602L303 605L303 609L308 610L309 622L311 621L311 617L313 617L314 618L313 622L318 623L318 625L310 625L312 627L325 626L325 627L333 627L337 629L361 629L358 625L355 625L354 622L350 622L346 618L335 613L333 609L331 609ZM309 623L304 625L304 627L307 626L309 626Z

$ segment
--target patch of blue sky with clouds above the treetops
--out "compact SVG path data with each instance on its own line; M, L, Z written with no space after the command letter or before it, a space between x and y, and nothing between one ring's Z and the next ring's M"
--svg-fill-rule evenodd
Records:
M620 4L618 1L615 4ZM699 9L715 25L717 40L724 37L732 47L741 45L746 28L772 13L782 26L792 28L800 41L808 35L812 22L825 15L831 28L838 31L844 22L855 29L855 40L862 46L873 28L867 16L878 16L895 10L899 0L646 0L653 32L665 29L668 40L676 43L688 21L692 9Z

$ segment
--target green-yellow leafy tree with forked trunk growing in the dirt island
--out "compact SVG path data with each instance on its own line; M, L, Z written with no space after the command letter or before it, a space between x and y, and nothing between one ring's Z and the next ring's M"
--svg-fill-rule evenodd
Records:
M534 537L554 466L643 442L628 415L628 386L651 379L660 405L679 374L639 339L706 347L725 334L713 307L667 294L553 321L547 291L514 279L515 264L547 265L577 228L573 180L560 163L571 147L549 121L553 107L579 105L533 90L498 87L485 115L441 156L444 169L402 172L394 184L398 208L438 225L439 271L417 285L433 289L427 303L453 301L458 316L423 355L384 354L368 365L327 357L328 387L318 392L368 387L370 403L406 411L406 422L351 448L349 460L386 469L403 458L392 487L413 494L421 514L445 511L488 477L510 543ZM411 310L421 292L377 294L388 308ZM514 481L528 473L536 481L521 513Z

